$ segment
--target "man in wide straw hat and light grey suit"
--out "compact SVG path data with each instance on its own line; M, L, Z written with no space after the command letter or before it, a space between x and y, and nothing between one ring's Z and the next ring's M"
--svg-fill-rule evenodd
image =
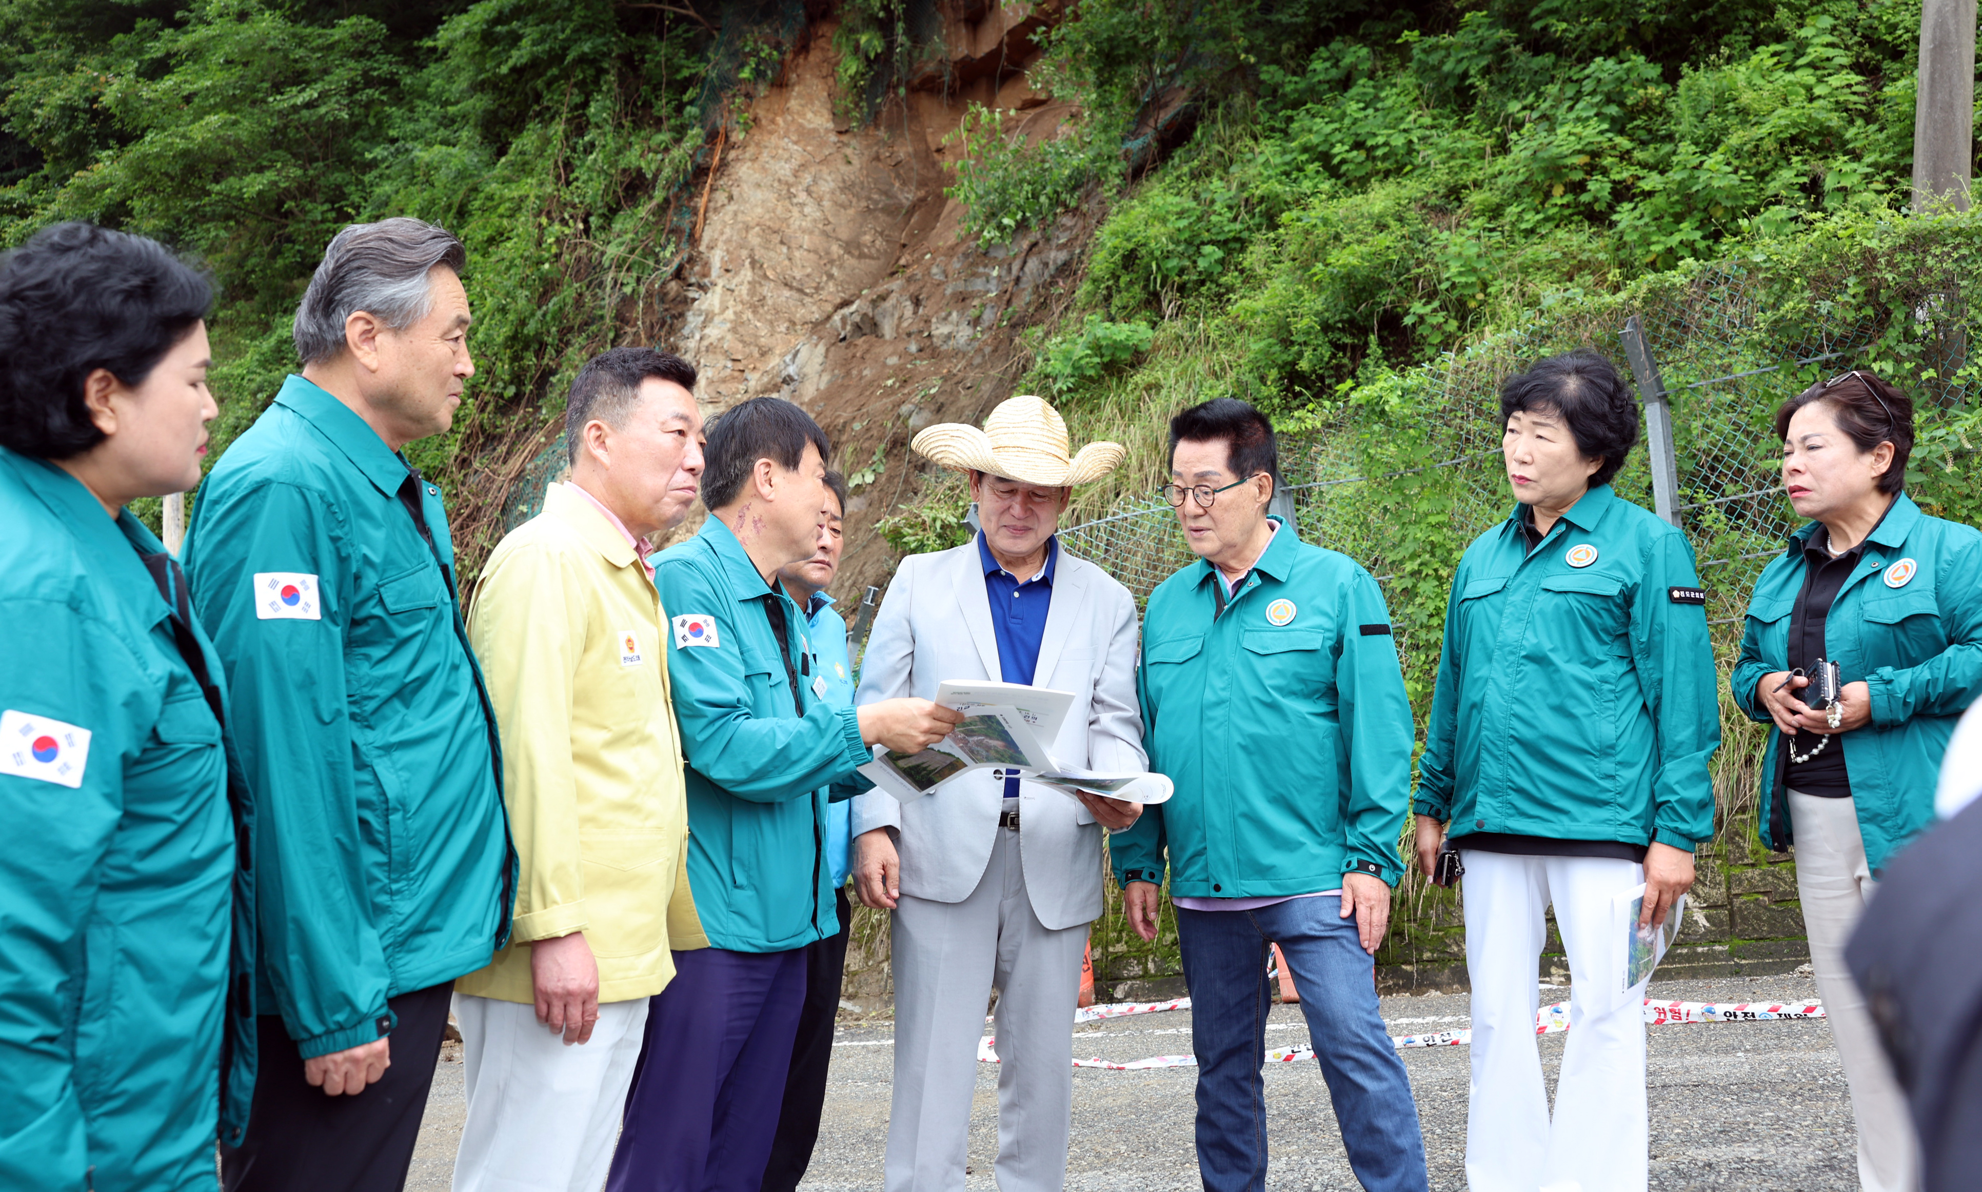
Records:
M1037 397L1005 401L983 430L930 426L910 446L969 474L983 532L902 559L874 619L858 702L930 698L945 678L1074 692L1052 758L1144 770L1136 603L1054 539L1072 486L1114 470L1122 446L1090 442L1068 458L1066 422ZM908 805L880 791L856 801L856 893L894 910L888 1192L963 1188L993 986L997 1184L1064 1184L1072 1021L1088 924L1102 910L1102 827L1124 829L1140 813L1140 803L1074 801L999 770L961 774Z

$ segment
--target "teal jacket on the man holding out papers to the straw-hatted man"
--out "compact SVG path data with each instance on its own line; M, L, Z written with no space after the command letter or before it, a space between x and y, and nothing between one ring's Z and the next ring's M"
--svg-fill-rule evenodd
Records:
M654 555L668 682L688 754L688 887L710 944L783 952L838 934L826 805L872 760L830 692L805 613L719 520ZM779 651L765 603L785 613ZM850 793L850 789L846 791Z

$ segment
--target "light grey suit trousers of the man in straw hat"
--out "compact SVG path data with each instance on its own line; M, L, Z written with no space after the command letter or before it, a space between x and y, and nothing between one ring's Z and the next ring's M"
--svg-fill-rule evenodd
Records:
M894 1105L888 1192L963 1192L977 1039L997 986L997 1186L1060 1192L1074 1109L1074 1008L1088 926L1033 914L1019 833L997 829L971 896L894 912Z

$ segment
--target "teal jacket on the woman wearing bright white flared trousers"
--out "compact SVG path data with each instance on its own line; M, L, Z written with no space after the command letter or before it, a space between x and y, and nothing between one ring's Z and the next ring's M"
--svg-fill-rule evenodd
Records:
M1720 702L1687 536L1607 484L1534 551L1520 514L1453 575L1413 807L1461 845L1492 831L1693 851L1714 835Z

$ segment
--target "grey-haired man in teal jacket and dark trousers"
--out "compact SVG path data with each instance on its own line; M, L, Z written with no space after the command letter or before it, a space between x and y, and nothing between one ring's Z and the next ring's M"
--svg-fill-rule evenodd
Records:
M303 373L186 537L258 813L262 1067L228 1192L402 1186L454 978L509 934L496 714L440 488L400 454L474 375L462 264L420 220L339 232L295 311Z

